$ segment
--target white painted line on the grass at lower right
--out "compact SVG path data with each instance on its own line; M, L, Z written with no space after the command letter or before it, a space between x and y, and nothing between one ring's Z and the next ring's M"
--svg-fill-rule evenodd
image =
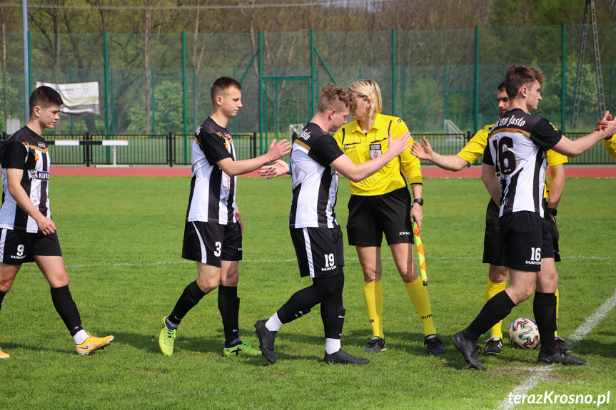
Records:
M595 329L595 326L601 322L601 320L610 313L610 310L616 306L616 292L612 294L612 296L608 297L605 302L600 307L597 307L595 313L591 314L586 318L586 321L580 324L575 332L567 339L567 344L569 346L575 346L578 342L586 337L587 334L592 332L592 329ZM554 368L555 365L550 367L537 367L532 371L532 374L527 377L521 384L518 384L513 388L510 394L505 396L505 399L500 402L500 406L498 410L511 410L515 407L514 403L509 402L509 397L514 397L516 394L524 395L527 394L530 389L533 389L537 386L537 383L550 374L550 371Z

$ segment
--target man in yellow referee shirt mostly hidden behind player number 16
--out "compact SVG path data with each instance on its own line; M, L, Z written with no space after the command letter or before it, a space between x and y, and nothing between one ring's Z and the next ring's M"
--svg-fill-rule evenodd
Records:
M505 81L498 85L498 92L496 94L498 102L498 111L500 116L509 108L509 97L505 91ZM488 134L494 127L494 124L485 125L484 128L478 131L473 138L460 150L457 155L440 155L435 153L431 148L427 140L424 139L425 145L415 143L413 147L413 154L418 158L430 160L440 168L458 171L465 168L468 164L472 164L475 160L483 155L485 146L488 145ZM565 163L567 163L567 157L560 155L553 150L547 151L547 165L550 166L550 173L552 174L552 183L546 178L545 193L543 195L544 205L547 208L546 219L550 224L550 230L552 232L552 238L554 242L555 262L560 262L560 252L558 248L558 229L556 227L556 213L560 196L565 185ZM485 300L490 300L495 294L505 289L509 278L509 269L504 266L504 261L500 258L500 227L498 223L498 210L500 201L500 185L495 174L482 175L486 188L490 192L490 195L497 198L490 199L488 203L488 209L485 215L485 237L483 243L483 263L490 264L488 269L488 283L485 287ZM556 289L556 312L558 313L558 289ZM556 335L556 332L555 332ZM565 340L561 337L555 336L557 344L565 352L571 352L570 347L567 347ZM490 339L485 344L484 354L500 354L500 350L503 348L503 332L502 322L490 329Z

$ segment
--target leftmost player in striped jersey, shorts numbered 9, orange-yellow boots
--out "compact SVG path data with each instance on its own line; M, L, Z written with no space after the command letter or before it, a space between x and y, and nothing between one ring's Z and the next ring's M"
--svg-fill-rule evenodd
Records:
M69 329L77 354L103 349L113 336L91 336L81 327L79 310L69 290L56 225L49 208L49 146L41 137L53 129L64 103L53 88L36 88L30 96L30 118L0 150L2 207L0 208L0 308L26 262L36 262L51 287L51 301ZM0 351L0 359L9 354Z

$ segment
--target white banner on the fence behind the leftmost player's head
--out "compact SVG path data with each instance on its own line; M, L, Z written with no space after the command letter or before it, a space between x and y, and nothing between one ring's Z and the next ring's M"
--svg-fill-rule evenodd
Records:
M62 96L64 105L61 107L61 114L68 116L99 116L101 106L99 105L99 83L71 83L54 84L36 81L36 86L48 86L54 88Z

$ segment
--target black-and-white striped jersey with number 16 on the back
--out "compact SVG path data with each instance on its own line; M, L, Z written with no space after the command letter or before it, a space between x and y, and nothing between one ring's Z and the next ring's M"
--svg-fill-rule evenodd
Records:
M541 116L520 108L507 111L490 130L483 162L495 165L503 196L500 215L530 211L543 217L547 150L562 134Z

